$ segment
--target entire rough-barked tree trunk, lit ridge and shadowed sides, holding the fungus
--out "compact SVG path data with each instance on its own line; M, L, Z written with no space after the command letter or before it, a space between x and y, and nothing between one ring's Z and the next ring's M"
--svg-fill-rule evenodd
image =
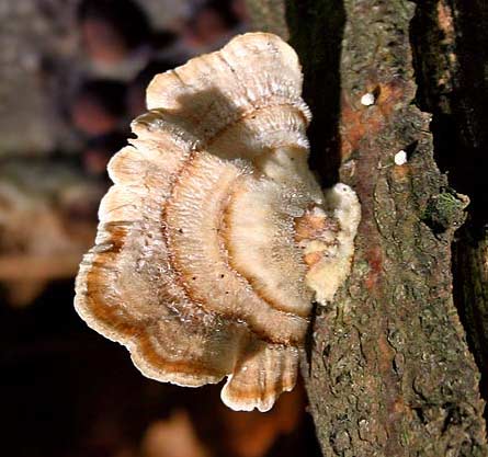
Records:
M286 3L314 113L311 164L325 185L352 185L362 204L351 276L333 304L317 309L303 363L325 456L488 455L479 372L452 294L452 242L467 198L434 160L435 151L443 171L463 176L488 151L488 103L466 89L485 78L486 32L469 30L486 19L483 1L428 0L417 11L406 0ZM252 12L276 1L250 3ZM432 129L416 103L434 114ZM468 185L456 188L477 213L456 244L455 296L486 369L487 242L479 235L473 242L486 205L479 182L464 175L454 184L463 180Z

